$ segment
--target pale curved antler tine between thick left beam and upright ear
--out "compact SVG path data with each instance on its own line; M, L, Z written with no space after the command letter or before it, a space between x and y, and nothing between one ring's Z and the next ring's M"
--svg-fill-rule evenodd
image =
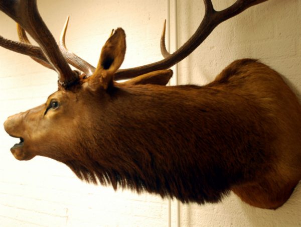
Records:
M64 28L62 30L62 33L61 33L59 48L62 51L63 55L65 56L65 58L67 59L67 62L69 64L71 64L75 68L81 70L87 76L90 76L95 71L95 67L90 65L88 62L86 62L82 58L78 57L73 52L69 51L66 47L65 37L66 37L66 31L67 31L67 28L68 28L68 23L69 23L69 16L67 17L65 26L64 26Z

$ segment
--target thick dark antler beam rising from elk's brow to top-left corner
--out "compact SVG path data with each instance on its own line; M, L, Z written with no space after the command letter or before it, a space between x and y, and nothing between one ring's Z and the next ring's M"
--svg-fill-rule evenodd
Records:
M49 62L59 74L59 84L65 88L78 80L42 20L36 0L2 0L0 10L22 26L39 44Z

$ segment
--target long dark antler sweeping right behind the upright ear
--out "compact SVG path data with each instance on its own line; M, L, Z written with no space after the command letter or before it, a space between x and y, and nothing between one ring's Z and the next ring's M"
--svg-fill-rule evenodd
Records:
M135 68L120 69L115 73L115 79L127 79L132 78L144 73L152 72L155 70L168 69L177 64L184 58L186 58L191 52L193 52L213 31L213 29L220 23L232 18L251 6L263 3L267 0L237 0L232 6L222 11L215 11L211 0L203 0L205 5L205 16L199 25L197 31L192 37L173 54L169 54L166 50L165 43L162 39L165 39L165 28L163 32L163 38L161 39L161 50L165 57L163 60L143 65ZM165 26L164 26L165 27Z

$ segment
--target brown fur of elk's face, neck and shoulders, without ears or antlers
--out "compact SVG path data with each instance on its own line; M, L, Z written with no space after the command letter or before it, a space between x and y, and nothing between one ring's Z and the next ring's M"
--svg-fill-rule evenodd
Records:
M300 104L256 60L233 62L205 86L105 90L91 89L93 79L52 94L48 102L61 105L47 115L48 102L5 123L25 141L16 158L47 156L80 179L182 202L217 202L233 190L262 208L282 205L301 179Z

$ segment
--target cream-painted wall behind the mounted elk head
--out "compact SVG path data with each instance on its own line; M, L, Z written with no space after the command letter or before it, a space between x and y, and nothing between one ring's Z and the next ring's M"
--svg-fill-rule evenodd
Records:
M38 1L38 6L55 37L66 16L71 16L67 46L94 65L111 29L122 27L127 34L122 67L127 68L161 59L159 37L167 2L55 0ZM233 2L213 1L216 9ZM179 45L193 34L203 11L200 0L178 1ZM208 83L231 61L254 57L301 91L300 15L301 1L269 0L224 22L179 64L179 83ZM3 13L0 34L17 40L15 24ZM55 72L3 48L0 69L0 122L45 102L57 88ZM167 200L87 185L66 166L47 158L17 161L9 151L14 143L16 139L0 127L0 226L168 225ZM172 226L176 226L175 202L172 205ZM233 194L219 204L181 204L181 226L301 226L300 210L299 184L287 203L275 211L251 207Z

